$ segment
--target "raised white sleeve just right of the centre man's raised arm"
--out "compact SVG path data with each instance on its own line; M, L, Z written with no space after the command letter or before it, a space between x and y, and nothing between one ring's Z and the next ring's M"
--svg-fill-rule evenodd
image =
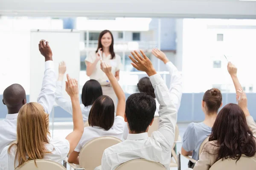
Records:
M172 62L167 62L166 68L168 69L171 76L169 90L172 97L171 99L178 111L180 108L180 101L182 96L182 76L175 65L172 64Z

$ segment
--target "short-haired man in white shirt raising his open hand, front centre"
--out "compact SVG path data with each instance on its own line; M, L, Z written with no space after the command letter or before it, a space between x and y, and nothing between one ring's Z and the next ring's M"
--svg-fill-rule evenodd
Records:
M175 100L181 95L181 88L179 88L180 85L174 85L169 91L162 77L157 74L143 51L140 51L143 57L137 51L134 52L131 54L136 60L129 56L133 61L131 64L137 70L145 71L148 74L160 104L159 129L154 131L151 137L148 137L148 127L154 121L156 110L154 98L144 93L129 96L125 107L125 121L128 122L129 127L127 140L104 151L101 169L115 170L126 161L143 158L160 162L168 170L177 122Z

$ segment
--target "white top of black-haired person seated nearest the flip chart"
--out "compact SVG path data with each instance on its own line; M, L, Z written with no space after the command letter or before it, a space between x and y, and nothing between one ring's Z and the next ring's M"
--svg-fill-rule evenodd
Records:
M62 95L62 82L61 81L57 81L55 96L56 96L55 102L61 108L63 108L65 111L67 111L68 113L70 113L72 115L73 114L72 102L68 101L67 99L65 99L63 97L63 95ZM81 108L81 111L82 111L84 122L88 121L89 112L90 112L90 109L92 108L92 105L84 107L84 104L80 104L80 108Z

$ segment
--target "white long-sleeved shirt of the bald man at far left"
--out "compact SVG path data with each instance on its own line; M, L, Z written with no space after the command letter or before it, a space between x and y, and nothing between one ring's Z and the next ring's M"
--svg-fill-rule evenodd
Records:
M44 78L41 93L37 102L44 107L44 111L51 113L55 100L56 76L53 61L45 62ZM0 121L0 153L4 147L17 139L17 117L16 114L7 114L6 119Z

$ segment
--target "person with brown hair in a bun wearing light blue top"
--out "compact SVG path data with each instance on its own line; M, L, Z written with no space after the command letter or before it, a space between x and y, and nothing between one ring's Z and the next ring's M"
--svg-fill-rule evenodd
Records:
M218 109L222 105L221 91L212 88L204 93L202 100L202 110L205 119L200 123L190 123L183 135L181 153L185 156L192 156L199 159L199 149L204 140L211 134L212 125L217 117ZM189 161L189 167L193 168L193 163Z

